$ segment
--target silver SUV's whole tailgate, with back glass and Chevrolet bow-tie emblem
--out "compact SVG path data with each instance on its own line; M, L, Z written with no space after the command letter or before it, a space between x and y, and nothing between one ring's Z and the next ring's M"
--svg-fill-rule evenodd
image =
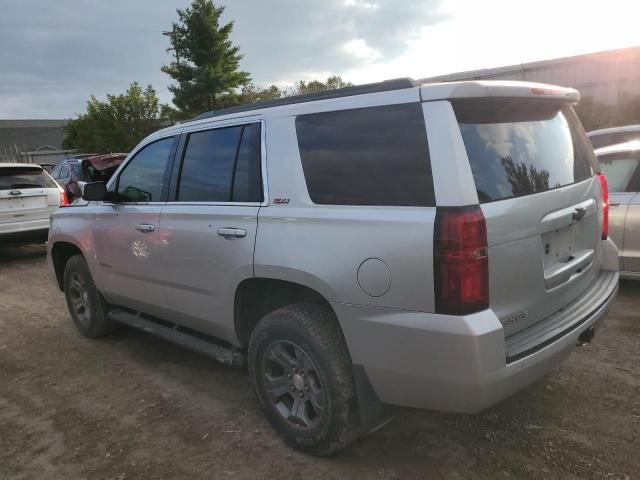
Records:
M452 103L487 222L490 306L508 336L566 306L598 275L597 161L569 106Z

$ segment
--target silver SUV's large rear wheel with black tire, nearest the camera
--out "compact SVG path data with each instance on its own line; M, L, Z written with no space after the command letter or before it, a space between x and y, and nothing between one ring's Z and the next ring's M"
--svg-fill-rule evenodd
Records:
M330 455L359 435L351 358L328 307L296 304L265 316L249 341L249 376L292 447Z

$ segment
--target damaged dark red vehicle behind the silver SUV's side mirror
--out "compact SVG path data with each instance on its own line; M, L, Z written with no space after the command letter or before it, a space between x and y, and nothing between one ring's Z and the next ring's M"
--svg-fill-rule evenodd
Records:
M51 175L67 192L69 201L80 198L87 182L107 182L127 157L126 153L106 153L68 158Z

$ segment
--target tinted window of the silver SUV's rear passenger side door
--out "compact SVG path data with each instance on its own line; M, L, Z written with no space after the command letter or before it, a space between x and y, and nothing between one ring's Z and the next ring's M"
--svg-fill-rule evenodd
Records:
M261 202L260 124L189 134L180 202Z

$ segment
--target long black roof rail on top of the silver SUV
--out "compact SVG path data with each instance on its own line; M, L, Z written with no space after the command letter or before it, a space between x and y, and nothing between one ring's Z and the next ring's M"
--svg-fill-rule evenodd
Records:
M327 100L330 98L350 97L352 95L364 95L366 93L388 92L391 90L401 90L404 88L419 87L422 84L416 82L412 78L394 78L377 83L367 83L364 85L356 85L354 87L344 87L335 90L325 90L322 92L306 93L304 95L294 95L291 97L276 98L275 100L264 100L262 102L246 103L237 107L223 108L222 110L201 113L193 117L193 120L203 120L205 118L219 117L221 115L229 115L231 113L248 112L251 110L260 110L262 108L279 107L281 105L293 105L295 103L313 102L315 100Z

